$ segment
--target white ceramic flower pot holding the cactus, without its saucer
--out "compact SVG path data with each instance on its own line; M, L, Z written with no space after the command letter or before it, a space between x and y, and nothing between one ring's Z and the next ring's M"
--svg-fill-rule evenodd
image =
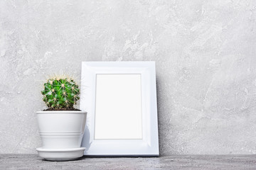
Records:
M38 111L37 118L42 148L80 148L85 130L86 112Z

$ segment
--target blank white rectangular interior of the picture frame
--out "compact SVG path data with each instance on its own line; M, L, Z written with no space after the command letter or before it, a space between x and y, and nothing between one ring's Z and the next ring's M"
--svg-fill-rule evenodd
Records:
M142 75L96 74L95 140L142 139Z

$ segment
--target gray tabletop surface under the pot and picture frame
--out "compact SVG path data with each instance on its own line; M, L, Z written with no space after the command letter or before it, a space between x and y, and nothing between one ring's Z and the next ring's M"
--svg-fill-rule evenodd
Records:
M36 154L0 154L0 169L256 169L256 155L107 157L48 162Z

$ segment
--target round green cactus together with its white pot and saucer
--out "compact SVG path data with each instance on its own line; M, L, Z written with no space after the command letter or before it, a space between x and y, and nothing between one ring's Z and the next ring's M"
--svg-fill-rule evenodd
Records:
M70 78L53 77L41 94L48 109L37 112L43 145L36 149L39 156L57 161L82 157L86 112L73 107L79 100L78 84Z

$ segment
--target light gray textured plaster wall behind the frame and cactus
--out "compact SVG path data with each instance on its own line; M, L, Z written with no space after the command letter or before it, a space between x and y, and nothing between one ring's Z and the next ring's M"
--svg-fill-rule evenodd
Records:
M161 154L256 153L256 1L0 1L0 153L36 153L52 73L156 61Z

